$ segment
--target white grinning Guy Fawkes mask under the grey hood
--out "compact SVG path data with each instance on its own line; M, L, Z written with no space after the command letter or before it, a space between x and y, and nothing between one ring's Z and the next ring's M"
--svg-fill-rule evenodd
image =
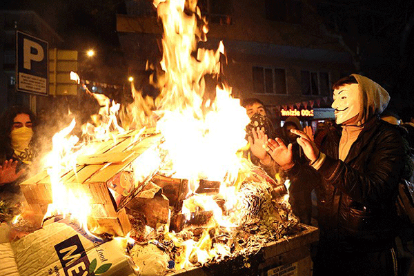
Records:
M332 108L335 109L337 124L343 124L354 117L357 119L360 106L358 83L345 84L333 90ZM355 124L356 122L350 123Z

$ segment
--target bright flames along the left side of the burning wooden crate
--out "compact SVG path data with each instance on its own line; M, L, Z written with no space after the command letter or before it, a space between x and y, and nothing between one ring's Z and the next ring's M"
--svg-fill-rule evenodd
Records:
M97 99L101 109L98 116L92 116L94 125L82 126L84 140L79 141L79 137L71 135L76 125L75 119L72 119L68 127L53 136L52 151L44 158L52 189L52 204L48 205L45 217L70 216L70 219L77 220L86 231L88 231L88 217L92 213L90 196L79 185L63 183L61 176L70 170L76 171L78 156L95 152L94 147L88 146L89 139L101 141L113 139L115 142L115 134L124 132L124 129L117 124L119 103L110 101L105 95L93 93L91 95Z

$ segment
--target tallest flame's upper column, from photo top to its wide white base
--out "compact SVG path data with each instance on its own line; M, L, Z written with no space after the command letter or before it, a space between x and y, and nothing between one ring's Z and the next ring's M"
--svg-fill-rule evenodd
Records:
M217 86L213 102L204 95L204 75L219 74L224 46L220 42L215 51L197 49L208 28L196 4L178 0L155 3L164 26L164 77L157 83L161 94L156 101L163 116L157 129L165 137L163 147L172 159L175 176L190 179L190 183L222 181L229 172L237 175L235 153L246 145L244 126L248 124L246 111L231 97L229 88Z

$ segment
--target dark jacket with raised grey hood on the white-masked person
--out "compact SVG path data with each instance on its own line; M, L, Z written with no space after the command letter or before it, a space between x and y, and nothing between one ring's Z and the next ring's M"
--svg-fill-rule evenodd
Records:
M394 203L404 171L404 146L397 127L378 117L388 104L388 93L371 79L353 76L363 103L358 117L362 129L344 161L339 159L335 135L321 145L323 161L316 168L322 177L316 187L320 240L349 252L377 251L390 248L394 237ZM309 177L309 170L300 164L286 173Z

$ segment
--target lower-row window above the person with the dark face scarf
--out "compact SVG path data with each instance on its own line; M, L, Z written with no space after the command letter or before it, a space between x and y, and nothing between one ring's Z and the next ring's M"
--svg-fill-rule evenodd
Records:
M253 89L258 94L286 94L286 70L254 66Z

